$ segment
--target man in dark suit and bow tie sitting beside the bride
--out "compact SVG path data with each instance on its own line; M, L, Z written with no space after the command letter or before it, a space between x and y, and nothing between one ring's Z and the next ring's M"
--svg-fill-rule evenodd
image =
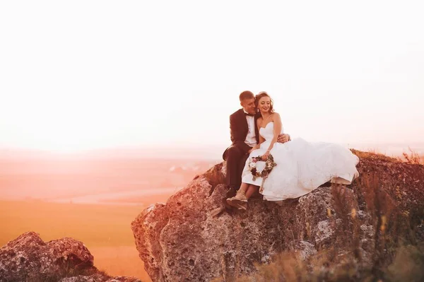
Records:
M225 199L235 196L235 192L242 184L242 171L245 167L249 153L253 147L259 143L259 129L257 119L261 116L257 112L254 95L250 91L243 91L239 96L242 109L230 115L230 135L232 145L223 153L223 159L227 161L227 194L224 198L226 208L228 206ZM288 134L280 134L278 142L290 141ZM247 194L252 192L247 192Z

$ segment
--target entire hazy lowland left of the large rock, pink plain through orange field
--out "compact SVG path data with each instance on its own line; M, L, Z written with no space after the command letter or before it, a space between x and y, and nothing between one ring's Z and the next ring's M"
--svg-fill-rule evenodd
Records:
M73 237L88 247L98 269L150 281L131 221L213 164L186 158L0 158L0 247L27 231L45 241Z

